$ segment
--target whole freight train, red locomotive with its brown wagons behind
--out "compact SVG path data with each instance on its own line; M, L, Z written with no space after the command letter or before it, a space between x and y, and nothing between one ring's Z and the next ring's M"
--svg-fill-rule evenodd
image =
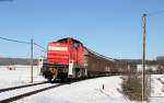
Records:
M51 80L81 79L128 71L128 64L107 58L71 37L48 43L42 75Z

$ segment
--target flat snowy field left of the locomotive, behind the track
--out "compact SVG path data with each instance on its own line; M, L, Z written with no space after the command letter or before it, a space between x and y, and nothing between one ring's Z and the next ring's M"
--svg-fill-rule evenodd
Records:
M34 66L34 82L45 81L39 76L39 69ZM0 89L31 83L30 66L1 66L0 67Z

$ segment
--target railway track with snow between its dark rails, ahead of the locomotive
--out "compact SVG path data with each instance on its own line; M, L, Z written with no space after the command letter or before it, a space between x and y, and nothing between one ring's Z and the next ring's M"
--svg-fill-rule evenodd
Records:
M17 101L20 99L50 90L60 85L63 85L65 83L35 83L35 84L26 84L26 85L21 85L20 87L13 87L13 88L8 88L8 89L2 89L0 92L0 103L10 103L13 101Z

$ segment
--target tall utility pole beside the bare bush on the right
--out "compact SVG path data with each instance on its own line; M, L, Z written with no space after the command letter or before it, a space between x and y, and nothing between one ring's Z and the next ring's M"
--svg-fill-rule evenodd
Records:
M143 53L142 53L142 101L145 100L145 41L147 41L147 14L142 15L143 27Z

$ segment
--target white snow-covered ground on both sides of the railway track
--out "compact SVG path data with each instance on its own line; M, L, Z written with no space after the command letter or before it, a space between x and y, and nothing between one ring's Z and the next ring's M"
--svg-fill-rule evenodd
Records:
M164 75L153 75L151 78L152 89L149 103L164 103ZM46 80L39 76L39 69L34 67L34 82ZM31 67L16 66L15 70L0 67L1 89L30 82ZM136 103L121 93L121 76L90 79L44 91L14 103ZM1 95L0 98L2 99Z

